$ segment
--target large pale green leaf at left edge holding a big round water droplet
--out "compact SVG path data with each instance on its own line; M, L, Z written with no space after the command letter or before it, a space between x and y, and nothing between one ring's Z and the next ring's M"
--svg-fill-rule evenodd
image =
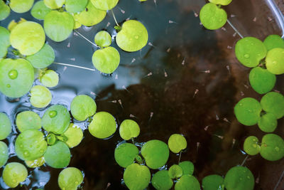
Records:
M21 97L33 85L33 66L24 59L0 60L0 91L8 97Z

